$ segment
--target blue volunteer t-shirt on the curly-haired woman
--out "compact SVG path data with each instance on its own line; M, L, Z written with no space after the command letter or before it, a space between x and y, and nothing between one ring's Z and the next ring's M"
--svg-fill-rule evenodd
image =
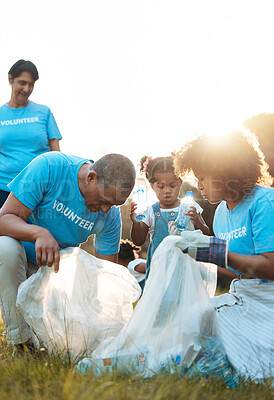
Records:
M213 230L218 238L229 241L233 253L274 251L274 189L255 187L233 210L222 201L215 212Z

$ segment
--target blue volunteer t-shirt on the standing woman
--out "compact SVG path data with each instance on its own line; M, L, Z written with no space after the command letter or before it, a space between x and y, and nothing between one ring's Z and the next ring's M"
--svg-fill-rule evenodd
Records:
M50 151L49 140L62 139L49 107L33 103L26 107L0 107L0 189L40 154Z

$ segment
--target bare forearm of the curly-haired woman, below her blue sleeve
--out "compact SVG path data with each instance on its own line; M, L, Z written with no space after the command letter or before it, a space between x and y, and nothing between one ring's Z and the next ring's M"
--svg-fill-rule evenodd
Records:
M250 256L228 252L228 265L253 278L274 280L274 253Z

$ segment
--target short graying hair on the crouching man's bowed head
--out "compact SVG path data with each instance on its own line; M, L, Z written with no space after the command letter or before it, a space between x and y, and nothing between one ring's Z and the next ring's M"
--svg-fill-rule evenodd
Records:
M135 167L129 158L121 154L106 154L91 165L98 176L97 184L105 189L115 187L129 196L136 179Z

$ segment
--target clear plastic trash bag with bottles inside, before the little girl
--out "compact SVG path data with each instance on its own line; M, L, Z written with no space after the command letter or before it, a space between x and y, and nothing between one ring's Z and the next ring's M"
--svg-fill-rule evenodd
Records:
M81 360L78 371L101 375L119 370L142 377L163 371L224 376L227 366L230 372L210 302L216 290L217 267L184 254L182 249L188 244L189 240L178 236L163 240L153 255L143 296L130 321L116 338L107 339L91 357Z

